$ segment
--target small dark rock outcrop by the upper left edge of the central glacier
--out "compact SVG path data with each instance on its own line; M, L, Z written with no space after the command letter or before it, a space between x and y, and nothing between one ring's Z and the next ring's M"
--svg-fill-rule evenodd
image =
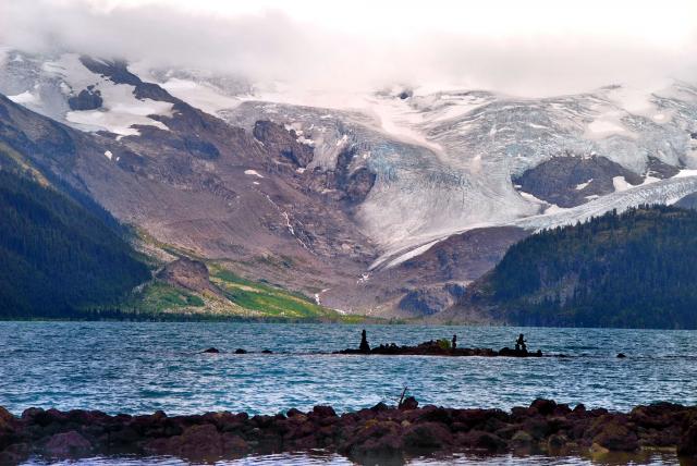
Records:
M258 121L254 125L254 137L264 144L269 152L281 162L291 162L298 168L313 161L313 148L299 143L294 130L270 121Z

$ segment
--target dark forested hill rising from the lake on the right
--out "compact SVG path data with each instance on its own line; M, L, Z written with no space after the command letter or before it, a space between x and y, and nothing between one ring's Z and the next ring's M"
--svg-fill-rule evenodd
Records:
M458 306L523 326L697 328L697 212L608 212L511 246ZM472 312L469 312L472 314Z

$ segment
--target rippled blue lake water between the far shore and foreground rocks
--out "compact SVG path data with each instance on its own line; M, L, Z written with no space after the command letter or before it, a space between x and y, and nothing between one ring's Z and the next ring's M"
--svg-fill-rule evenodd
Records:
M530 350L572 357L318 354L357 346L363 328L0 322L0 405L15 414L29 406L112 414L274 414L316 404L344 412L380 401L394 404L404 387L420 404L449 407L509 409L536 397L622 410L657 401L697 404L696 331L365 326L374 345L416 344L456 333L461 347L498 350L513 346L524 332ZM200 353L210 346L223 353ZM239 347L274 354L233 354ZM619 352L628 357L617 359ZM510 464L515 462L510 457Z

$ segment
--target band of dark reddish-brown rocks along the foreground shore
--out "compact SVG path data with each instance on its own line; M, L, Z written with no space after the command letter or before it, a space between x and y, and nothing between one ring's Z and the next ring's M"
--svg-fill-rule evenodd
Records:
M574 408L551 400L528 407L453 409L382 403L337 415L330 406L276 416L207 413L110 416L96 410L0 407L0 464L30 456L173 455L215 462L248 454L321 449L360 464L402 464L417 455L585 455L660 449L697 462L697 406L660 403L629 413Z

